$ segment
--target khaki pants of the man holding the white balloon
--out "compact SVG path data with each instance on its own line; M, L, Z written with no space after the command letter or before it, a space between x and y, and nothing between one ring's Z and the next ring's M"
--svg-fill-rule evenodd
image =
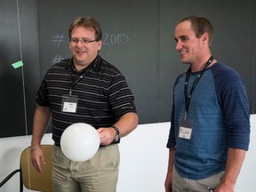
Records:
M70 161L60 147L52 149L55 192L116 192L120 156L117 144L99 148L85 162Z

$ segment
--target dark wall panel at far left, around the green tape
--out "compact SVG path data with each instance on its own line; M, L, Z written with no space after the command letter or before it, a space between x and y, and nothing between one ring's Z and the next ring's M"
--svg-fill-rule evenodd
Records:
M36 1L22 0L17 9L16 0L0 0L0 26L0 137L26 135L40 82ZM23 68L12 68L19 60Z

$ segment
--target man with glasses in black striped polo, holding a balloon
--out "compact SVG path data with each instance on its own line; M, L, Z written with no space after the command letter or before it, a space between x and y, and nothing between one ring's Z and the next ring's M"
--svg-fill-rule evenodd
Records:
M115 192L120 138L138 125L134 97L121 72L100 55L102 32L92 17L70 25L72 58L54 64L36 95L32 163L42 172L40 142L52 119L54 191ZM100 134L100 148L85 162L74 162L60 149L62 132L75 123L91 124ZM76 140L76 138L74 138Z

